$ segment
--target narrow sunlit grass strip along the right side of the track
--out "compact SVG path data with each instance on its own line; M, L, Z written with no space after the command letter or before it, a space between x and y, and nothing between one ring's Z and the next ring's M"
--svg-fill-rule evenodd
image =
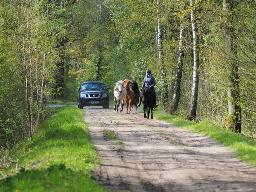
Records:
M154 110L154 117L159 120L171 123L179 128L188 129L194 133L200 133L220 142L226 147L233 149L240 161L251 164L256 167L256 143L242 134L213 125L210 122L194 123L184 120L178 116L166 114L163 111Z

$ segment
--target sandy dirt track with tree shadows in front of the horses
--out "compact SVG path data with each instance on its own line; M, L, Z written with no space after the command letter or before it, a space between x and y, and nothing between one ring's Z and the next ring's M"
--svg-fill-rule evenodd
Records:
M256 169L210 138L144 119L141 112L84 111L102 159L95 177L114 192L256 191Z

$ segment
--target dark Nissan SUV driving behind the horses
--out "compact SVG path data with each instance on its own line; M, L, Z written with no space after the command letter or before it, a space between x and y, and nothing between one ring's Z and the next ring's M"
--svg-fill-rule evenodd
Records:
M81 83L78 90L77 103L80 109L85 106L103 106L103 109L109 108L110 87L106 88L102 81L85 81Z

